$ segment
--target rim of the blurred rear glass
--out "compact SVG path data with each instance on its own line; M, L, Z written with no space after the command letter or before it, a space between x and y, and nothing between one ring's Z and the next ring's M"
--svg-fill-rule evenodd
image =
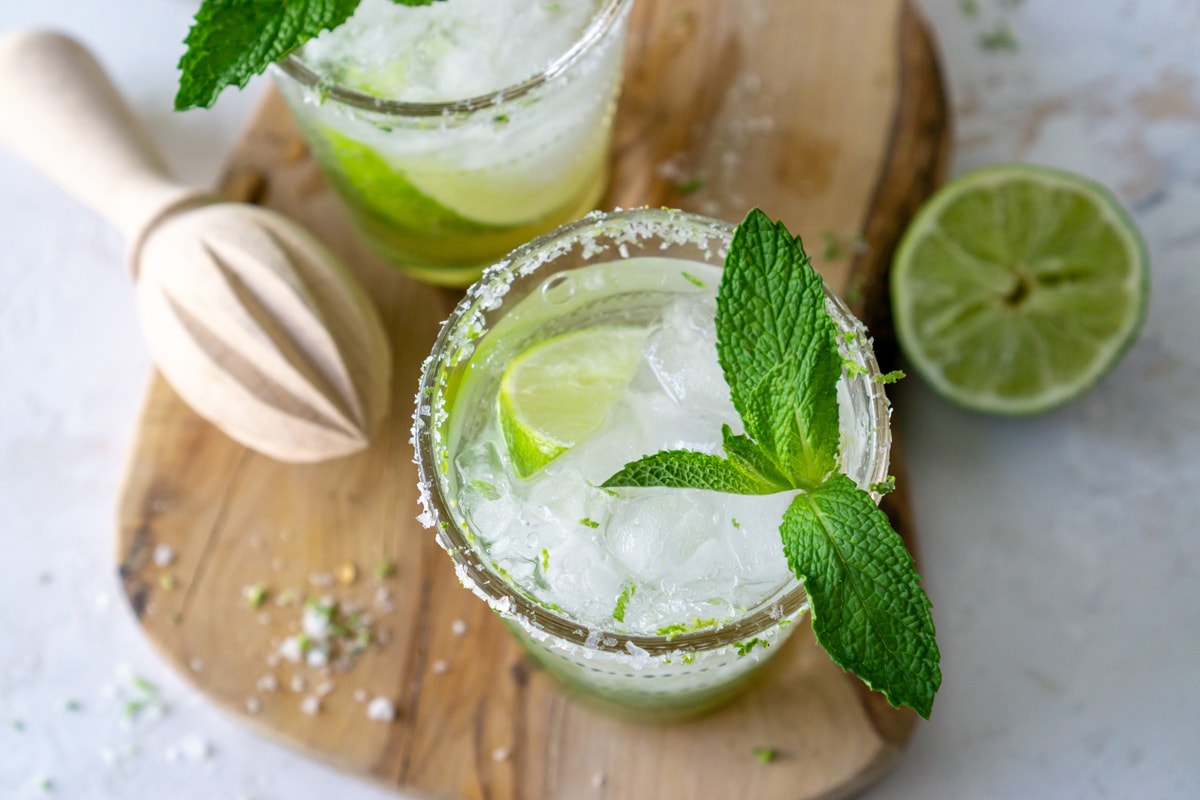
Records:
M295 53L283 56L275 62L275 66L302 86L319 90L325 98L336 100L338 103L344 106L350 106L367 112L390 114L392 116L449 116L455 114L472 114L490 108L497 108L512 100L524 97L526 95L552 83L559 76L566 73L589 50L592 50L593 47L604 40L605 35L612 30L618 19L620 19L625 8L632 5L632 2L634 0L605 0L604 6L592 17L592 22L588 23L583 34L575 40L575 43L538 74L526 78L520 83L487 92L486 95L475 95L474 97L464 97L461 100L414 103L376 97L355 89L348 89L340 84L326 83Z

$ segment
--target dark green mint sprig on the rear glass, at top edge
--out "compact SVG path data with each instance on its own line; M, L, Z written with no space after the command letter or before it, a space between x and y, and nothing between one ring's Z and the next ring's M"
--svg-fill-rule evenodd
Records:
M427 6L434 0L392 0ZM344 23L359 0L204 0L180 59L175 110L208 108L226 86L244 88L272 62Z

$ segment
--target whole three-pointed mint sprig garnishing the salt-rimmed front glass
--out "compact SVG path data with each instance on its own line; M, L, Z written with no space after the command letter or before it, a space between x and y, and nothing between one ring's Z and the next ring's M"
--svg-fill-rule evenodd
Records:
M842 360L824 284L799 239L755 209L738 225L716 295L716 350L745 434L725 458L672 450L605 487L734 494L799 491L780 537L804 583L817 643L835 663L929 717L942 681L929 597L899 534L840 469Z

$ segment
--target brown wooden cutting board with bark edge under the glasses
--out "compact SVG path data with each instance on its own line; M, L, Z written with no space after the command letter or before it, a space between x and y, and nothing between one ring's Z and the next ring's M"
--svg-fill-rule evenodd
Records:
M805 237L886 361L889 255L946 152L937 64L904 0L638 0L605 206L737 221L760 205ZM640 726L559 693L414 519L412 398L456 293L364 249L274 92L223 184L304 222L368 287L391 335L395 408L368 451L286 465L151 378L116 557L146 634L200 691L272 738L418 796L840 798L896 759L914 716L844 674L808 625L749 694L694 722ZM893 463L901 488L888 507L912 546L899 453ZM395 573L378 578L385 559ZM251 608L244 588L256 584L268 594ZM281 661L300 618L287 601L305 595L370 609L377 643L344 670ZM370 720L365 696L394 702L396 720ZM310 697L314 715L301 710ZM779 757L762 764L755 747Z

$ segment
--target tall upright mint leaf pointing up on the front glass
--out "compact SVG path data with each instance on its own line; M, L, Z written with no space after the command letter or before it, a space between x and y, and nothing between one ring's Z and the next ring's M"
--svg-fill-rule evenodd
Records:
M755 209L738 225L716 295L716 354L746 434L791 486L838 467L836 330L798 239Z

